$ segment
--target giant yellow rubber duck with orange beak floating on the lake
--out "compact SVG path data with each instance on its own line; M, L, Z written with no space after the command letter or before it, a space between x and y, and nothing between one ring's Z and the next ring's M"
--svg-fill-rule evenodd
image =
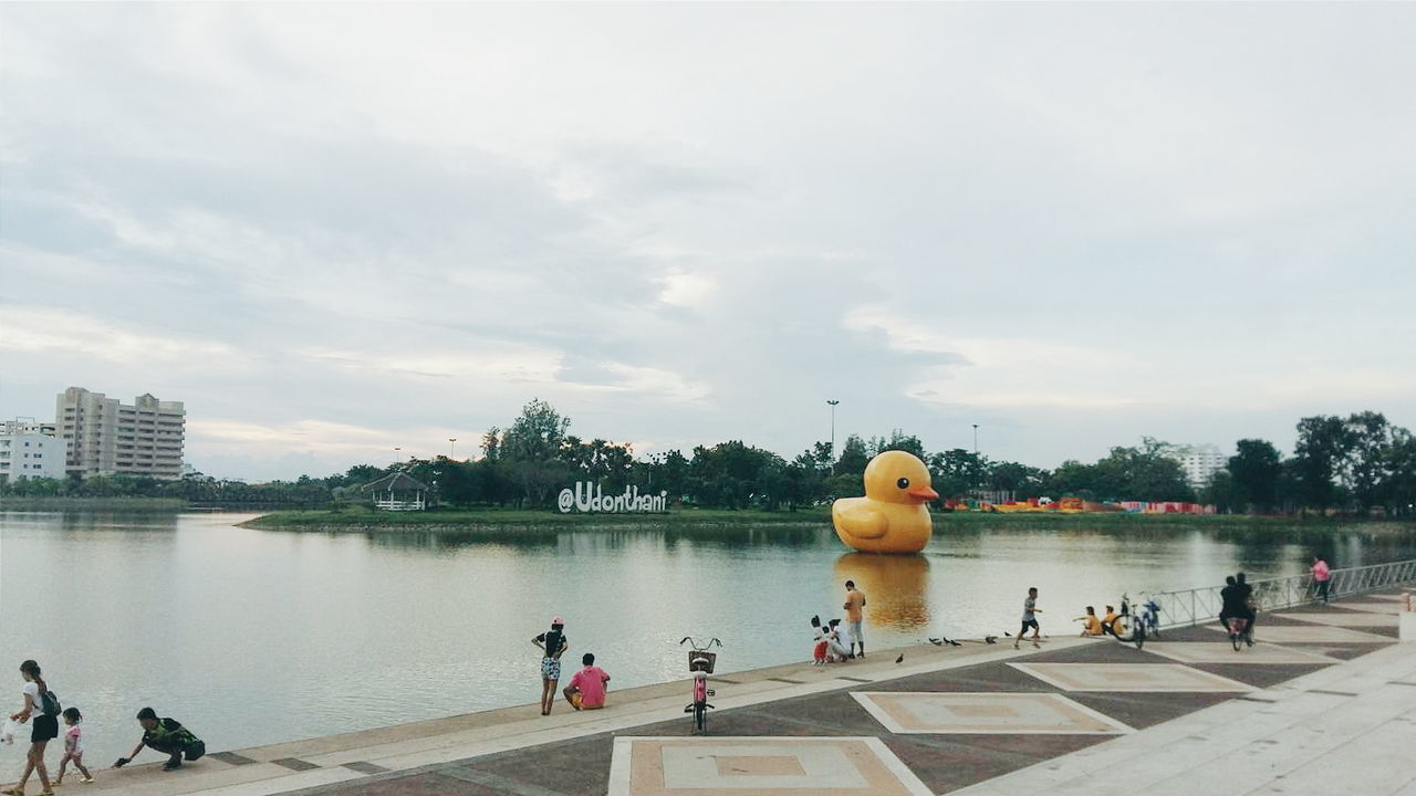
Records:
M918 456L886 450L865 466L865 497L833 503L831 523L861 552L919 552L933 531L925 504L936 497Z

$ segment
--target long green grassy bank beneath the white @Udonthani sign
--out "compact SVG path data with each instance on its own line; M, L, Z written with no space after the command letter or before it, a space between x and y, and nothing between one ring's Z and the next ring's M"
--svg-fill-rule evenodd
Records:
M987 528L1048 530L1216 530L1216 531L1359 531L1416 533L1416 523L1366 520L1298 520L1294 517L1188 516L1188 514L983 514L937 513L935 530L969 531ZM374 511L344 507L326 511L273 511L244 523L252 528L364 533L364 531L469 531L481 528L722 528L732 525L779 525L783 528L828 527L827 507L799 511L729 511L683 508L668 514L561 514L549 510L467 508L439 511Z

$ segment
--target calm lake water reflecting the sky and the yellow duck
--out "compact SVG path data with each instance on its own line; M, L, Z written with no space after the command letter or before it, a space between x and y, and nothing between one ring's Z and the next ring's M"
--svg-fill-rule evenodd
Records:
M1340 567L1416 557L1409 537L1358 534L988 528L901 558L848 554L826 524L438 537L235 525L249 517L0 514L4 712L37 659L108 765L144 705L219 751L534 703L530 639L552 615L571 643L562 686L593 652L629 687L683 677L685 635L722 639L719 671L806 660L807 620L841 615L847 578L879 650L1015 630L1029 585L1044 632L1070 635L1123 591L1298 574L1314 545ZM21 758L0 746L0 765Z

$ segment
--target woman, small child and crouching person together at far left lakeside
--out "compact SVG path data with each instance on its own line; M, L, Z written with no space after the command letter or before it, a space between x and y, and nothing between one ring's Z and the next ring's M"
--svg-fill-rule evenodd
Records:
M64 772L71 762L81 775L79 782L85 785L93 782L93 776L89 775L88 768L84 765L84 731L81 727L84 714L78 708L64 708L59 705L59 697L50 690L40 664L34 660L25 660L20 664L20 677L24 680L24 687L20 690L24 705L18 712L10 714L10 721L20 725L30 725L30 751L24 758L24 773L20 775L20 782L0 790L0 795L24 796L24 788L30 782L30 776L38 776L40 796L52 796L52 788L64 785ZM65 725L64 756L59 759L59 773L51 782L50 769L44 763L44 752L50 741L59 737L61 717ZM143 727L143 738L137 742L133 752L126 758L119 758L113 763L113 768L127 765L132 758L143 751L143 746L169 755L163 771L178 769L184 758L195 761L207 754L207 745L193 735L190 729L176 720L159 718L157 711L153 708L137 711L137 722Z

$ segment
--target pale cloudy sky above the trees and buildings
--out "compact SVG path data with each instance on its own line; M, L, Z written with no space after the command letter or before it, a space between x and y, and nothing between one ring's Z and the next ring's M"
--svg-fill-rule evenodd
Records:
M0 415L248 479L1416 426L1416 4L6 4Z

